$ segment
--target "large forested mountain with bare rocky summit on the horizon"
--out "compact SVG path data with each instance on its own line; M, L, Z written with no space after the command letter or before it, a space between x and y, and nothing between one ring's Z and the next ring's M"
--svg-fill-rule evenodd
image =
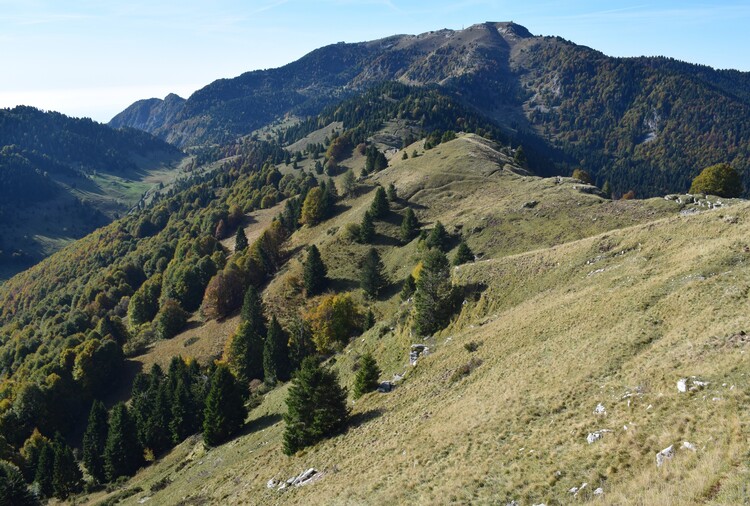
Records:
M315 116L371 86L438 86L501 126L542 175L583 167L618 194L686 191L728 162L748 172L750 76L668 58L612 58L514 23L317 49L221 79L187 100L140 101L112 119L179 146L224 143L285 115Z

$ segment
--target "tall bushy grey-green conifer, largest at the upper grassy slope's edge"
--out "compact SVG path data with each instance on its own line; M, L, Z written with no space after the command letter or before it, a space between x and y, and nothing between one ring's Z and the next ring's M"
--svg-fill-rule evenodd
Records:
M414 330L426 336L440 330L452 313L454 291L450 264L445 254L430 250L425 255L414 292Z

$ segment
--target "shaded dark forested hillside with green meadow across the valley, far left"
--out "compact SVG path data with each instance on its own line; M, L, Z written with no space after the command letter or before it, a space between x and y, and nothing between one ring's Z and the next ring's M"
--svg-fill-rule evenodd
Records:
M182 158L138 130L0 110L0 280L127 213Z

